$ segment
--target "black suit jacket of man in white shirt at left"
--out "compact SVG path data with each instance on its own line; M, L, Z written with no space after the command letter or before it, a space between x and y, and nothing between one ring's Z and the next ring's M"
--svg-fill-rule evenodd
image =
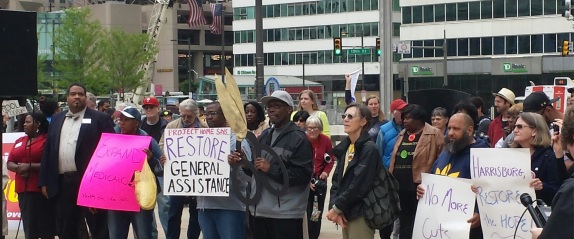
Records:
M66 119L67 111L55 114L52 117L44 152L42 154L42 163L40 164L40 178L38 187L46 186L48 196L55 197L59 188L59 153L60 153L60 132ZM87 120L90 119L90 120ZM84 171L92 158L92 154L100 142L102 133L114 133L114 122L107 114L86 108L84 113L84 122L80 126L78 141L76 143L76 169L79 173L79 180L82 180Z

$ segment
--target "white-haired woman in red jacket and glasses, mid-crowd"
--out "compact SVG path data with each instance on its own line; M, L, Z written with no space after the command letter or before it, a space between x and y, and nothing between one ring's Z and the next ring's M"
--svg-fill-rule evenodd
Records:
M309 217L309 239L319 238L321 233L321 212L324 209L327 195L327 178L333 169L333 156L331 155L331 139L323 134L321 119L310 116L305 122L307 138L313 145L313 178L311 192L307 202L307 216Z

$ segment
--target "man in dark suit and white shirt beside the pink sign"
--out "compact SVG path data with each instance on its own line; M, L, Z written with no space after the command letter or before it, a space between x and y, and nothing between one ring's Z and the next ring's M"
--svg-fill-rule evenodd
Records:
M114 123L104 113L86 107L86 88L74 83L68 87L69 111L53 116L48 131L38 186L57 206L58 237L82 238L86 219L92 238L109 238L105 211L77 205L82 176L96 150L102 133L113 133Z

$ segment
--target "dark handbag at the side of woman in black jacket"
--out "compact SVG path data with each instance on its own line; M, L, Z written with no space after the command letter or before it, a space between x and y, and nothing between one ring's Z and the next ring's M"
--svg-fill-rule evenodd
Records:
M382 167L371 191L363 198L363 216L373 229L383 229L399 217L399 182L389 170Z

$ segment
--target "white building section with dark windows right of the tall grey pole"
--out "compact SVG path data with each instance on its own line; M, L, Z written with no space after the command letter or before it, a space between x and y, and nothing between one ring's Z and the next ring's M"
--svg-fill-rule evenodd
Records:
M574 56L562 42L574 40L572 23L557 0L401 0L401 40L411 54L399 64L407 90L442 87L446 34L448 87L492 99L502 87L524 94L529 81L553 84L574 76ZM425 69L421 71L420 69Z

